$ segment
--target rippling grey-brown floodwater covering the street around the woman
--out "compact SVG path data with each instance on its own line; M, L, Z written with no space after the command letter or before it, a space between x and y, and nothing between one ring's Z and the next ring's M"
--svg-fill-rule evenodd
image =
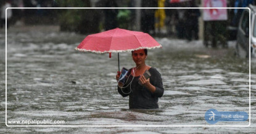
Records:
M202 41L155 39L147 65L162 74L165 92L159 109L128 109L117 92L117 53L85 53L75 47L85 35L59 32L57 26L10 28L7 33L7 120L65 120L57 125L134 125L134 127L4 127L5 33L1 31L1 132L252 133L255 127L255 61L251 65L252 125L248 127L136 127L136 125L211 125L209 109L249 114L249 61L228 49L207 49ZM120 53L120 67L131 68L131 53ZM218 122L214 125L248 125ZM8 124L18 125L18 124ZM26 124L22 124L26 125ZM36 124L30 124L36 125ZM44 125L44 124L40 124ZM49 124L46 124L49 125ZM50 124L51 125L51 124ZM56 125L56 124L54 124Z

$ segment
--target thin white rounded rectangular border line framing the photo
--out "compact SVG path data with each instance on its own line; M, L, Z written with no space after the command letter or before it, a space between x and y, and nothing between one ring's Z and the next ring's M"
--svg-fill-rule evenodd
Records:
M7 10L8 9L249 9L249 7L8 7L6 9L6 126L7 127L249 127L250 126L250 56L248 125L7 125ZM249 9L250 26L250 9ZM250 27L249 27L250 33ZM250 46L250 34L249 34ZM250 54L250 47L249 47Z

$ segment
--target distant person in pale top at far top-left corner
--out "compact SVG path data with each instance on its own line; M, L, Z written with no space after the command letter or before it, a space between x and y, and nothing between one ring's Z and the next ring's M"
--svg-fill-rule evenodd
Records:
M10 22L10 18L12 17L12 9L8 9L7 10L7 17L6 17L6 9L8 7L12 7L10 5L10 1L6 1L4 3L4 5L1 7L1 22L0 22L0 25L1 25L1 28L4 27L4 24L6 24L6 18L7 18L7 28L9 28L9 22Z

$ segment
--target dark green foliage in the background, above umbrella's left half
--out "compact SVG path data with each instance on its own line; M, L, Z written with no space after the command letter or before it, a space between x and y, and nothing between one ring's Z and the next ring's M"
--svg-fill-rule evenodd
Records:
M89 1L57 0L60 7L90 7ZM59 22L61 31L76 33L97 33L99 31L99 15L95 9L64 9L60 10Z

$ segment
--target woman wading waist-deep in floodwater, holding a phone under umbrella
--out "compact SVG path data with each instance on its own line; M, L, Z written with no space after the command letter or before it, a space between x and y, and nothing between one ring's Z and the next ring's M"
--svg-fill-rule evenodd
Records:
M147 49L134 50L131 55L136 67L129 69L125 84L118 82L118 93L122 97L129 96L130 109L159 108L158 100L164 90L161 74L157 69L146 65ZM149 79L143 75L146 69L151 74ZM116 76L117 81L119 77L120 72Z

